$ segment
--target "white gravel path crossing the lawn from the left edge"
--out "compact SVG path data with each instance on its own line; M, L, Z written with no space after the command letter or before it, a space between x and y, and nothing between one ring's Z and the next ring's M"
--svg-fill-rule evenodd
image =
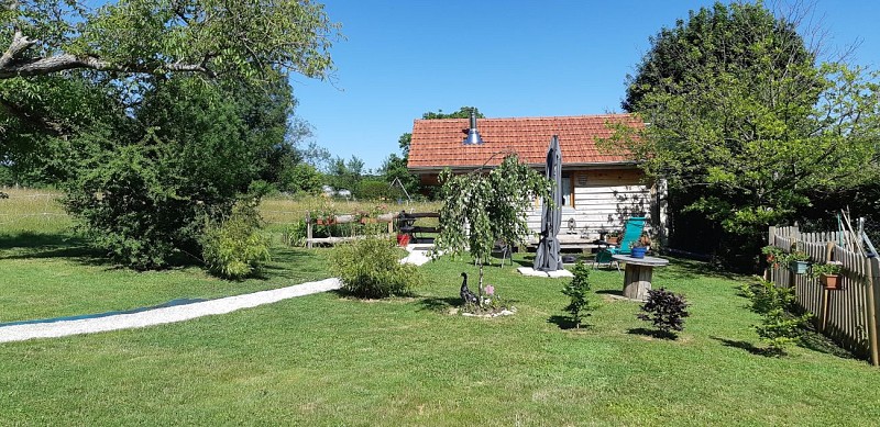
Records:
M339 289L339 279L324 279L317 282L261 291L244 295L227 296L186 305L155 308L145 312L117 314L106 317L34 323L0 327L0 342L23 341L34 338L65 337L68 335L92 334L106 330L140 328L188 321L190 318L231 313L241 308L255 307L296 296L327 292Z

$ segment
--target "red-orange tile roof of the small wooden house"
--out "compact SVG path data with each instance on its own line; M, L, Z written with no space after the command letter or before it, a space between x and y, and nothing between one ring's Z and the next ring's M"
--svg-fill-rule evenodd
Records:
M644 123L630 114L579 115L568 117L477 119L482 145L463 145L468 119L416 120L409 145L409 168L442 169L498 165L499 151L516 151L529 165L543 165L550 138L559 135L563 165L620 164L631 158L596 147L596 138L608 137L609 123L641 128Z

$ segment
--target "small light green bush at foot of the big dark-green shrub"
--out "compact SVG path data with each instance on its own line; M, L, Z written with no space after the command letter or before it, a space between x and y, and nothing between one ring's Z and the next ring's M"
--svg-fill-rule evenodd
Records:
M237 204L229 218L205 229L202 256L208 268L224 278L253 274L270 260L268 239L260 233L255 202Z

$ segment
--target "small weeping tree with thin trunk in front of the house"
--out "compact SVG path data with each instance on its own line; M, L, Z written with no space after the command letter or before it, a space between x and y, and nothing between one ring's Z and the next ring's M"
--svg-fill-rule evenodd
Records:
M480 299L483 299L483 266L498 240L521 241L528 234L526 211L536 198L550 193L550 181L516 154L508 154L501 165L486 165L466 173L440 175L443 201L440 207L438 251L453 255L469 250L480 267Z

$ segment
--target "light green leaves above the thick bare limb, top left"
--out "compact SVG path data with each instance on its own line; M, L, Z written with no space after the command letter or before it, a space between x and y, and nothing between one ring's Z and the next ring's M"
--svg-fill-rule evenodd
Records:
M252 80L275 69L322 78L332 65L327 50L339 30L323 5L299 0L130 0L97 9L55 3L37 0L2 9L0 41L11 43L13 31L21 30L34 43L16 46L13 55L54 58L54 67L10 61L0 67L0 78L58 68Z

